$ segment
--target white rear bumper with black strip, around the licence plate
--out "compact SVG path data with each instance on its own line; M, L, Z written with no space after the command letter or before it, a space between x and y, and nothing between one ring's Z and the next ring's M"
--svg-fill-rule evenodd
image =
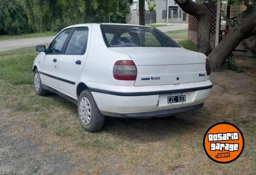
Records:
M101 113L125 118L160 117L201 108L212 88L209 80L155 86L114 86L100 83L97 85L101 87L89 86L89 89ZM167 94L173 93L185 94L186 102L168 104Z

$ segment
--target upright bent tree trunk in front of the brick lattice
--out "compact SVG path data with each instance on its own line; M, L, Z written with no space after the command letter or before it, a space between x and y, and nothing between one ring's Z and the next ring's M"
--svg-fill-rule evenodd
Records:
M175 2L182 8L183 11L196 17L198 21L197 51L208 55L211 52L211 12L206 6L196 4L192 0L175 0Z

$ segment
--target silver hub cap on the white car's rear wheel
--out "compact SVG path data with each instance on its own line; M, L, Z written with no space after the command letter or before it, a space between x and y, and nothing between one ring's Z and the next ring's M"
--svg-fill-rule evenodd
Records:
M79 104L79 115L85 125L89 125L91 122L91 105L88 98L83 97Z

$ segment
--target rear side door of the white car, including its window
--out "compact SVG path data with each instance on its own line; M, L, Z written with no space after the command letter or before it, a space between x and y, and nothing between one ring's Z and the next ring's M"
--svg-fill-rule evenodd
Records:
M88 53L91 25L74 28L63 54L58 62L58 82L60 91L76 98L75 83L83 70Z

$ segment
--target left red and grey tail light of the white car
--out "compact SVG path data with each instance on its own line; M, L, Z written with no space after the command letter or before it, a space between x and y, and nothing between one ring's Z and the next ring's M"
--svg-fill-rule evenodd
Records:
M114 64L113 76L118 80L136 80L137 68L131 60L119 60Z

